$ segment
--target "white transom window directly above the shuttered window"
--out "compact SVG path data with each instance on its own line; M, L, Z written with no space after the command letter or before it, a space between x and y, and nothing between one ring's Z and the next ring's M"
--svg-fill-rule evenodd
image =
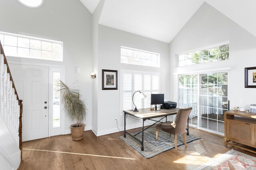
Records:
M160 54L121 46L121 63L160 67Z

